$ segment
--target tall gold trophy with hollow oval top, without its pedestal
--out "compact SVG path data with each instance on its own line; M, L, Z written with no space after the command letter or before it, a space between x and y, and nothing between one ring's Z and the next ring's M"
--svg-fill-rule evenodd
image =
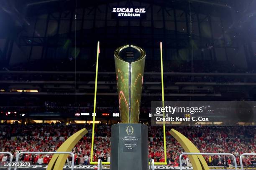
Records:
M114 52L120 118L122 123L138 123L146 52L124 45Z

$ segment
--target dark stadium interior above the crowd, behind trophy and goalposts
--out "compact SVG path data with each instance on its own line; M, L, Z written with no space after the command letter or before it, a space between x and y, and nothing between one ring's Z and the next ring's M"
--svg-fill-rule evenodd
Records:
M117 6L145 7L146 18L113 18ZM165 100L256 99L254 0L3 0L0 7L2 121L91 120L74 114L93 112L97 41L97 120L119 120L113 51L125 44L147 53L143 122L151 100L161 100L159 42Z

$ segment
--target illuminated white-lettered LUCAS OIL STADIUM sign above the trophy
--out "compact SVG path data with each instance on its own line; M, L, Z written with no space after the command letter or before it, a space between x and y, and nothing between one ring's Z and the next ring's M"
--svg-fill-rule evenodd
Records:
M144 7L113 7L112 18L145 19L146 8Z

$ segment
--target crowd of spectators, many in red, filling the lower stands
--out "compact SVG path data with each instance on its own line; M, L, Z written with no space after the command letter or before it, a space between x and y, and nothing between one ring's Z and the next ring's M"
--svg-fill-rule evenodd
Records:
M16 154L21 151L56 151L57 148L73 133L81 128L87 128L89 133L85 135L73 148L75 164L88 165L90 163L92 125L64 125L57 124L26 124L18 122L12 125L0 125L0 151ZM171 166L179 165L179 155L184 152L181 145L170 134L169 130L174 128L185 135L199 148L200 152L206 153L233 153L239 165L239 156L242 153L255 153L256 150L256 127L254 126L202 126L202 127L166 127L166 150L167 163ZM110 155L110 132L111 126L97 124L95 126L94 154L92 161L102 159L109 161ZM149 126L148 130L149 158L155 162L164 162L163 129L157 126ZM22 155L21 161L29 161L33 164L47 164L52 155L28 154ZM234 162L231 157L222 155L204 155L208 165L232 166ZM8 155L0 155L0 162L8 161ZM69 156L67 164L71 163ZM256 163L255 157L243 158L246 166ZM182 159L182 164L191 166L187 156Z

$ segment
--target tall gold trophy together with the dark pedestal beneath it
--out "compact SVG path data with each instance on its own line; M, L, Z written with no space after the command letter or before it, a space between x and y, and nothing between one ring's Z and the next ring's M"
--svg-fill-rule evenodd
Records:
M110 170L148 170L148 126L138 123L146 52L124 45L114 57L122 123L111 127Z

